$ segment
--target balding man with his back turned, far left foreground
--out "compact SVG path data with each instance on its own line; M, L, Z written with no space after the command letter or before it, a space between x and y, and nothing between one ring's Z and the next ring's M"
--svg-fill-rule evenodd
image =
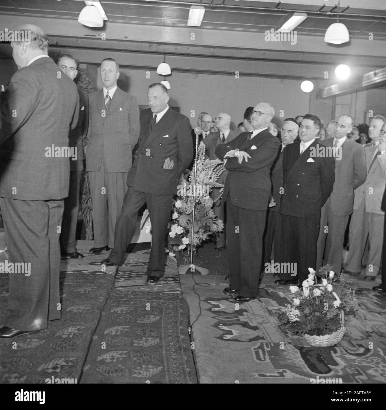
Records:
M61 317L58 227L70 178L68 134L79 112L77 87L58 75L43 30L18 30L31 41L11 42L19 70L2 106L0 207L8 262L30 269L9 275L9 316L0 338L45 329Z

